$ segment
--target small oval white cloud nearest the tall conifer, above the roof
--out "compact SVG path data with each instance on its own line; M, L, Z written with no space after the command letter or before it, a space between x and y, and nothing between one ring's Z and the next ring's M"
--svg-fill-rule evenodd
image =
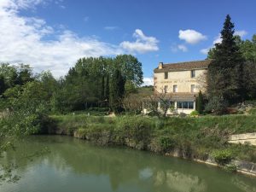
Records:
M201 32L196 32L195 30L179 30L178 38L184 40L188 44L198 44L199 42L206 40L207 36L201 34Z

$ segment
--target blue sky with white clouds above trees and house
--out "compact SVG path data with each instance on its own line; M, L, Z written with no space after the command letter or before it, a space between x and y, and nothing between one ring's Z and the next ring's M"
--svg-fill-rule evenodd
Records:
M131 54L153 84L160 61L204 60L230 14L256 33L255 0L0 0L0 62L64 76L81 57Z

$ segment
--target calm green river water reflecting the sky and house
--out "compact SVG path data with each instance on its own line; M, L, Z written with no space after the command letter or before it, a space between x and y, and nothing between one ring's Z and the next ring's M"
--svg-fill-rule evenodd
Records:
M46 146L50 154L26 158ZM2 183L1 192L256 192L253 177L128 148L96 147L73 137L30 137L2 161L17 163L21 178Z

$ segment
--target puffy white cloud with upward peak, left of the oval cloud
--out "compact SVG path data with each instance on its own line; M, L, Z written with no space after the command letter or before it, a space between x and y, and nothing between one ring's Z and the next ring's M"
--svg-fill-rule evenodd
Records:
M147 53L151 51L157 51L158 40L154 37L145 36L140 29L135 30L133 38L136 38L135 42L124 41L120 44L120 47L131 53Z

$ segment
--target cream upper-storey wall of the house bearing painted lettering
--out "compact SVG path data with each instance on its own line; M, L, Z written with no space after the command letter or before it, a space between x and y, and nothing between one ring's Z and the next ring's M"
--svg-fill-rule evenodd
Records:
M206 69L195 70L195 78L191 78L191 70L168 72L168 79L165 79L165 73L154 73L154 90L162 93L168 86L167 93L172 93L173 85L177 84L177 92L185 93L191 92L191 84L195 84L195 92L204 91L206 72Z

